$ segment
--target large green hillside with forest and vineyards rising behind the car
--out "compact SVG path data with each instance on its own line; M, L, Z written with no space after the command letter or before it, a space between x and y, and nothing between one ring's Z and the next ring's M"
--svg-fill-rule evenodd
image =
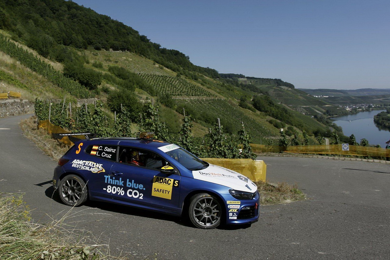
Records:
M137 101L153 99L172 133L180 129L184 108L195 119L196 136L207 134L219 117L230 134L237 134L243 123L256 143L275 143L280 126L309 134L328 128L302 115L321 114L327 103L290 83L253 77L245 83L229 81L214 69L191 64L183 53L161 48L131 27L73 2L27 2L34 2L32 8L0 3L0 80L28 99L96 97L105 102L108 118L120 113L122 104L131 111L135 129L144 113Z

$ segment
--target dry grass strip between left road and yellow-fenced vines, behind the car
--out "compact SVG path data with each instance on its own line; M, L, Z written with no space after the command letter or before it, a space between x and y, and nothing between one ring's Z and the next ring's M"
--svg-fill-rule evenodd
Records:
M69 149L64 143L53 139L44 129L37 129L36 117L21 120L20 127L28 139L34 141L44 154L56 161Z

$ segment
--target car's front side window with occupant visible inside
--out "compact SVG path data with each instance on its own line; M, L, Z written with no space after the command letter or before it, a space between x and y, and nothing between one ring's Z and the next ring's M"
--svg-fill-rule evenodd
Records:
M154 152L127 146L119 147L119 162L151 169L160 169L168 164L165 159Z

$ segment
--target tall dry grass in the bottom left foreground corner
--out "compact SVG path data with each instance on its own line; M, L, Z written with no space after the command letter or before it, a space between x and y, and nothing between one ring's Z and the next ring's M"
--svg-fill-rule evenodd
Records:
M80 216L72 209L59 220L41 225L31 220L20 193L0 193L1 259L124 259L110 256L106 244L90 245L97 240L90 232L65 225L66 219Z

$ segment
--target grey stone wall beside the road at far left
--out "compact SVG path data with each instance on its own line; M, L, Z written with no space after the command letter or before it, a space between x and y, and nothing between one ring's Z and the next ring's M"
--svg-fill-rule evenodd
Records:
M0 100L0 117L34 113L34 103L27 99Z

